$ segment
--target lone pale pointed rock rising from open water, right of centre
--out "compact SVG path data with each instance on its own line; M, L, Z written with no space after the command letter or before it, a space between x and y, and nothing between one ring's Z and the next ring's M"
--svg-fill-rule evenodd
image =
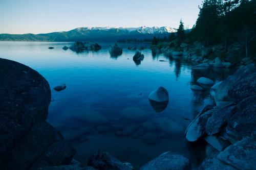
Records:
M168 91L164 87L159 87L157 90L154 90L148 95L148 99L155 102L168 102L169 94Z

